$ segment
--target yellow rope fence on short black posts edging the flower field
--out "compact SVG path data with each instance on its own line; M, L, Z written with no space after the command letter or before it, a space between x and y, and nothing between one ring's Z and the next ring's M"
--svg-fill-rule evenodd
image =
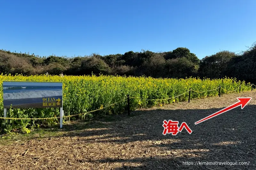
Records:
M246 87L246 88L251 88L252 86L255 86L254 84L252 84L251 86L249 87ZM220 96L220 89L223 89L224 91L226 92L234 92L236 90L239 89L239 92L241 91L241 85L239 87L237 87L235 90L233 91L228 91L226 89L224 89L223 87L219 86L218 88L215 88L215 89L212 89L212 90L207 90L207 91L204 91L204 92L210 92L210 91L214 91L214 90L217 90L219 89L219 96ZM193 92L197 92L197 93L203 93L203 92L198 92L198 91L195 91L195 90L192 90L192 89L189 89L187 92L189 92L189 100L188 102L190 101L190 92L193 91ZM180 95L177 95L177 96L174 96L174 97L171 97L171 98L166 98L166 99L143 99L143 98L140 98L140 100L146 100L146 101L150 101L150 100L154 100L154 101L159 101L159 100L169 100L169 99L174 99L174 98L177 98L183 94L186 94L187 92L184 92ZM110 104L108 106L105 106L105 107L100 107L99 109L96 109L96 110L92 110L92 111L89 111L89 112L85 112L85 113L79 113L79 114L76 114L76 115L68 115L68 116L59 116L59 117L45 117L45 118L13 118L13 117L0 117L0 119L10 119L10 120L49 120L49 119L58 119L58 118L68 118L68 117L73 117L73 116L78 116L78 115L84 115L84 114L89 114L89 113L92 113L92 112L96 112L96 111L99 111L99 110L102 110L104 108L107 108L107 107L110 107L110 106L113 106L113 105L116 105L117 103L120 103L124 100L127 100L127 103L129 104L130 102L130 98L134 98L134 99L138 99L136 97L132 97L132 96L129 96L127 95L127 97L125 97L124 99L122 100L119 100L118 102L116 103L113 103L113 104ZM128 105L129 107L129 105ZM129 107L130 108L130 107ZM128 109L128 115L130 115L130 109Z

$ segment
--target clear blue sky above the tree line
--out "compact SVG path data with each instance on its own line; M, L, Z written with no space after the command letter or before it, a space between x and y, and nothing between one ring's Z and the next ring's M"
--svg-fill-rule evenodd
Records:
M256 41L256 1L1 1L0 49L35 55L187 47L198 58Z

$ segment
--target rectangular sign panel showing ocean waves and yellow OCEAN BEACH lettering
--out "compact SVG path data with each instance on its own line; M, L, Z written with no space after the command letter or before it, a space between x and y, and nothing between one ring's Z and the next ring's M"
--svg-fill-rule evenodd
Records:
M62 107L62 83L3 82L4 108Z

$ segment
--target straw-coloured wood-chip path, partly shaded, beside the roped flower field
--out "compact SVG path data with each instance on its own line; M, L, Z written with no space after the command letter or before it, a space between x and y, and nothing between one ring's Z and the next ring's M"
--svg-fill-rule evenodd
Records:
M236 97L252 97L252 100L243 110L237 107L194 124L237 102ZM256 169L255 109L255 91L142 109L131 117L116 116L119 117L116 121L95 121L98 128L73 131L66 128L64 135L2 145L0 169L253 170ZM187 122L193 132L189 135L183 129L176 136L164 136L164 119ZM196 161L250 163L247 166L183 165Z

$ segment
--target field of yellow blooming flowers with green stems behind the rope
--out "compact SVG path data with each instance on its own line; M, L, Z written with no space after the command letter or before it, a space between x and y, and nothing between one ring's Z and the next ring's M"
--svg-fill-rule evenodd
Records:
M173 78L151 78L151 77L122 77L122 76L7 76L0 75L0 115L3 117L3 81L34 81L34 82L63 82L63 110L65 115L80 115L80 118L88 118L95 116L104 116L107 114L122 114L126 111L127 94L130 97L130 109L149 107L149 106L162 106L167 103L186 101L188 100L188 90L191 88L191 99L205 98L210 96L217 96L219 85L221 94L226 94L227 91L239 92L241 83L241 91L250 90L250 83L245 85L245 82L236 81L232 78L224 79L199 79L199 78L186 78L186 79L173 79ZM187 92L187 93L185 93ZM185 93L183 95L180 95ZM177 98L172 98L178 96ZM167 99L169 100L151 100L151 99ZM100 111L86 114L86 112L104 108ZM59 110L55 108L31 108L31 109L9 109L8 117L20 118L39 118L39 117L54 117L59 116ZM76 119L77 116L70 119ZM67 121L67 120L66 120ZM35 127L38 124L54 124L58 123L58 119L53 120L10 120L9 124L13 126L18 125L19 128L26 129L26 127ZM2 126L7 126L1 120ZM9 125L8 125L9 126ZM21 127L23 126L23 127ZM17 128L17 127L16 127ZM10 128L9 128L10 129Z

